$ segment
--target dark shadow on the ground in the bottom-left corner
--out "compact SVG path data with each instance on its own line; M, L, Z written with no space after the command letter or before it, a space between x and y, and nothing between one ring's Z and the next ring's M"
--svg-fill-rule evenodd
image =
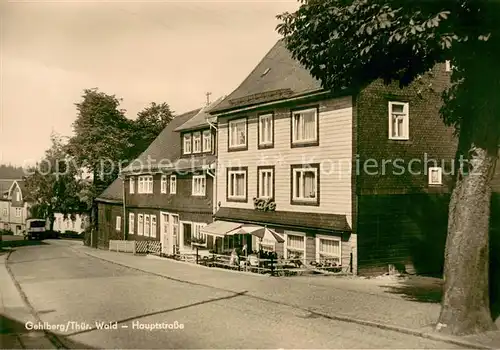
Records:
M87 344L70 340L64 335L50 331L45 332L45 334L55 348L94 349ZM43 349L47 340L40 337L40 335L40 331L26 329L24 323L0 314L0 348Z

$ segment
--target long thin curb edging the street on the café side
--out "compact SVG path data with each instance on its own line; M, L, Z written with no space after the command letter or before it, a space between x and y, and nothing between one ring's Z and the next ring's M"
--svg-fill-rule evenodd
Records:
M74 248L72 248L72 249L74 249ZM155 276L158 276L158 277L166 278L168 280L172 280L172 281L176 281L176 282L180 282L180 283L185 283L185 284L190 284L190 285L197 285L197 286L201 286L201 287L208 287L208 288L217 289L217 290L224 291L224 292L229 292L229 293L238 293L238 292L233 291L233 290L227 290L227 289L218 288L218 287L214 287L214 286L207 285L207 284L202 284L202 283L197 283L197 282L190 282L190 281L186 281L186 280L181 280L181 279L170 277L170 276L167 276L167 275L164 275L164 274L155 273L155 272L144 270L142 268L130 266L130 265L127 265L127 264L124 264L124 263L116 262L116 261L113 261L113 260L108 260L106 258L94 255L91 252L86 252L86 251L84 251L84 249L82 249L82 252L85 255L88 255L88 256L94 257L96 259L100 259L100 260L106 261L106 262L111 263L111 264L119 265L119 266L126 267L126 268L129 268L129 269L132 269L132 270L136 270L136 271L141 271L141 272L144 272L144 273L147 273L147 274L150 274L150 275L155 275ZM184 263L184 262L181 262L181 261L176 261L176 262L177 263L181 263L181 264L187 264L187 263ZM205 266L202 266L202 267L205 267ZM238 273L238 271L233 271L233 272ZM312 315L317 315L317 316L320 316L320 317L323 317L323 318L326 318L326 319L330 319L330 320L347 322L347 323L354 323L354 324L358 324L358 325L362 325L362 326L368 326L368 327L373 327L373 328L378 328L378 329L383 329L383 330L398 332L398 333L402 333L402 334L417 336L417 337L424 338L424 339L430 339L430 340L434 340L434 341L446 342L446 343L449 343L449 344L458 345L458 346L465 347L465 348L468 348L468 349L488 349L488 350L496 350L497 349L497 348L486 346L486 345L483 345L483 344L473 343L473 342L469 342L469 341L466 341L466 340L460 340L460 339L457 339L457 338L453 338L453 337L449 337L449 336L445 336L445 335L440 335L440 334L437 334L437 333L423 332L423 331L418 331L418 330L415 330L415 329L410 329L410 328L405 328L405 327L400 327L400 326L393 326L393 325L388 325L388 324L384 324L384 323L380 323L380 322L374 322L374 321L356 319L356 318L353 318L353 317L350 317L350 316L332 316L332 315L324 314L322 312L315 311L313 309L303 308L301 306L293 305L293 304L281 303L281 302L278 302L278 301L275 301L275 300L270 300L270 299L266 299L266 298L263 298L263 297L254 296L254 295L251 295L251 294L246 294L245 296L247 296L249 298L254 298L254 299L266 301L266 302L269 302L269 303L274 303L274 304L279 304L279 305L283 305L283 306L298 308L298 309L301 309L303 311L309 312Z

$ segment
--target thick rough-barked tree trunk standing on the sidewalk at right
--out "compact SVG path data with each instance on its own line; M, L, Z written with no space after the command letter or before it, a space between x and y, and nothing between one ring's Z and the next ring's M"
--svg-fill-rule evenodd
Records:
M436 329L466 335L496 329L489 298L489 216L497 153L472 145L468 174L457 177L450 201L444 295Z

